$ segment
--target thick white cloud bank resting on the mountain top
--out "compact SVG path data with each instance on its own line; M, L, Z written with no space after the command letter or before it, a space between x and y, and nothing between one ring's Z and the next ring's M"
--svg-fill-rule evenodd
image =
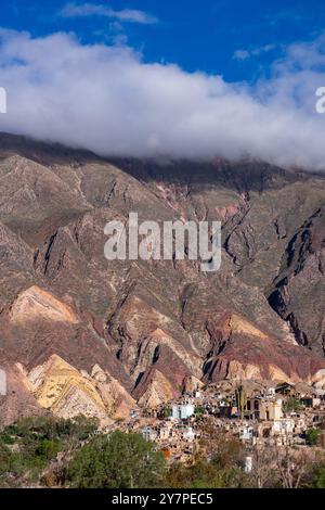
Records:
M287 48L253 85L146 63L70 34L0 31L0 130L101 155L238 158L325 168L325 38Z

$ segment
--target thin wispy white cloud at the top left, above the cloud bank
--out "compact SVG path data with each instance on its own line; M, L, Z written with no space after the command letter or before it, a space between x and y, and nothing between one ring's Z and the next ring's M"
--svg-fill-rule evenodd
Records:
M147 14L143 11L135 9L122 9L121 11L115 11L114 9L93 3L67 3L61 11L61 15L65 17L78 17L78 16L103 16L118 20L120 22L140 23L148 25L157 23L157 18Z

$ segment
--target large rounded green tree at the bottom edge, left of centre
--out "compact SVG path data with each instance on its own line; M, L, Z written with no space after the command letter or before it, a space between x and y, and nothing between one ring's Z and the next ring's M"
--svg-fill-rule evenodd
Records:
M69 485L78 488L154 487L164 474L164 456L153 443L119 431L92 439L68 468Z

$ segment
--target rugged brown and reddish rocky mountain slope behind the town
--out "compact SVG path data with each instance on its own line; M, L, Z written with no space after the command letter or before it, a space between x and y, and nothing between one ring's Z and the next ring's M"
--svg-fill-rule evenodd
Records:
M222 264L104 257L104 226L222 221ZM102 422L227 378L325 383L325 179L0 136L0 419Z

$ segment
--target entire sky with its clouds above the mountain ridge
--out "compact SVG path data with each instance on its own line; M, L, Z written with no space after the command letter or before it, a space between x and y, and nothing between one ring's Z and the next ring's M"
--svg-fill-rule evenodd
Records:
M9 0L0 87L0 131L325 170L320 0Z

